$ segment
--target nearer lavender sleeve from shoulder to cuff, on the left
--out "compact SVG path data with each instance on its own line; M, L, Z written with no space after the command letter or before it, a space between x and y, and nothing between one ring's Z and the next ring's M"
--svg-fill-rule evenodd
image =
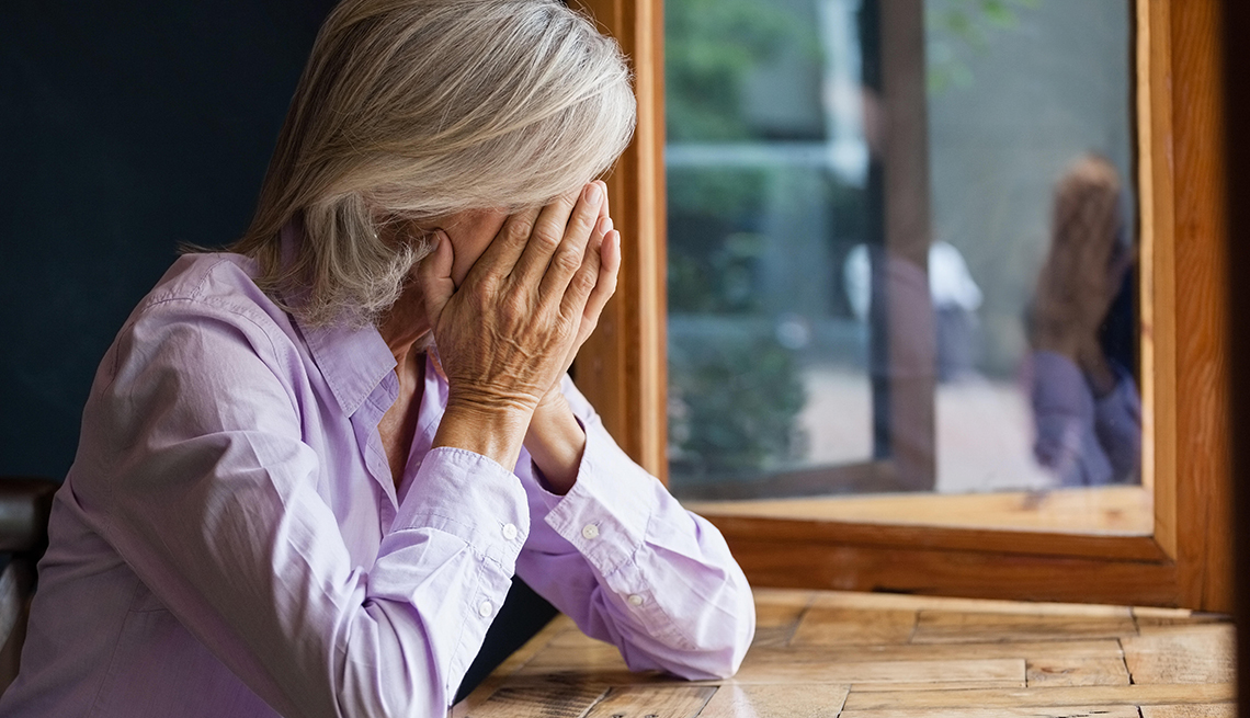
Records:
M335 457L301 441L318 410L261 322L166 303L112 351L78 471L96 479L74 488L161 607L284 716L441 716L526 539L516 476L429 452L356 564L326 498Z

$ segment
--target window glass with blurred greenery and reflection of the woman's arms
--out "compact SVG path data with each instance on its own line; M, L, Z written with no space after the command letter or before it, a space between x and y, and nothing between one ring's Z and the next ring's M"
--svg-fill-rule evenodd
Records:
M678 494L1140 481L1131 10L666 1Z

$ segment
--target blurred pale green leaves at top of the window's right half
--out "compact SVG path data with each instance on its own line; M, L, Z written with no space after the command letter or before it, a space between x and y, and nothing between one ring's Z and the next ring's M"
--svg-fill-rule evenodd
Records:
M1036 6L1038 0L930 0L929 92L971 86L975 77L966 57L984 52L996 32L1019 27L1019 10Z

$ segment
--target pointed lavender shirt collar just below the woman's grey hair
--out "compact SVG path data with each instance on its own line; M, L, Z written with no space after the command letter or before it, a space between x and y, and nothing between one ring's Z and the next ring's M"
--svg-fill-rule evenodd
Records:
M296 222L282 227L284 261L290 260L295 243L301 239L301 230ZM294 298L295 302L299 301L299 297ZM378 328L371 325L306 326L299 315L294 315L292 321L304 336L335 401L348 416L356 413L386 375L395 371L395 355L378 333ZM394 397L391 400L394 401Z

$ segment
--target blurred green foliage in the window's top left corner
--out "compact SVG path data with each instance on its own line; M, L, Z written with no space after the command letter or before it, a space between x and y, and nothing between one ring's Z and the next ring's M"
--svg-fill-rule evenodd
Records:
M670 141L741 140L742 84L794 41L801 24L761 0L669 0L664 9Z

